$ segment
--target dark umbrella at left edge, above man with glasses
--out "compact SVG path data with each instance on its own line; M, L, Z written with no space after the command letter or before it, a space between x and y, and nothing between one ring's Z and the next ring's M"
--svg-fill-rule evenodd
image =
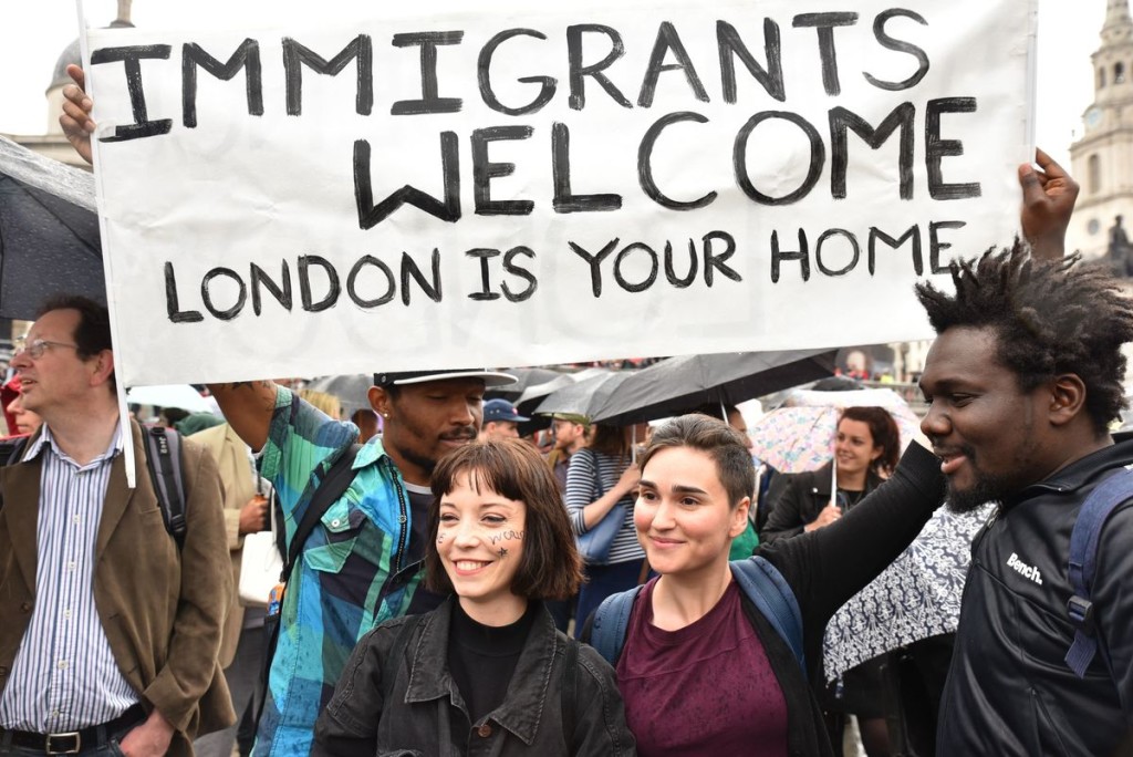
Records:
M0 137L0 317L59 294L107 301L94 177Z

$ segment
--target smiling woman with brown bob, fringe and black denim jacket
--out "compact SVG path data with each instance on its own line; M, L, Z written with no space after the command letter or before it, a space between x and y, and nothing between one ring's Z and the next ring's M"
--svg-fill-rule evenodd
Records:
M543 605L581 580L543 458L520 440L468 444L432 488L426 586L452 596L359 641L312 754L636 754L614 671Z

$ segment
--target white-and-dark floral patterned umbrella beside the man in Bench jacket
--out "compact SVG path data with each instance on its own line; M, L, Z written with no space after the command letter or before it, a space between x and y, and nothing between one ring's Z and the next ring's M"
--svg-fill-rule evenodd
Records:
M867 660L940 633L954 633L971 541L995 505L965 514L937 510L920 535L826 624L828 681Z

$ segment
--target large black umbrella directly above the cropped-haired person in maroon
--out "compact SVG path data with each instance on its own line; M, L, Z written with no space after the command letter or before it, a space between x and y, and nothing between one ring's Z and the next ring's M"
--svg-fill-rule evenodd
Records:
M671 357L622 382L590 419L629 425L701 405L738 405L834 373L835 350L725 352Z

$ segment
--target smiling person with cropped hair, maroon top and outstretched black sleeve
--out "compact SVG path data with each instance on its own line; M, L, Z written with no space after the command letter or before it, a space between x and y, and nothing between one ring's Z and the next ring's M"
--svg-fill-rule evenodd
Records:
M806 673L729 565L755 490L743 439L687 415L654 431L639 465L633 521L659 575L637 594L615 661L638 754L833 755ZM940 461L912 444L837 522L757 550L798 601L808 669L829 616L912 542L943 495Z

